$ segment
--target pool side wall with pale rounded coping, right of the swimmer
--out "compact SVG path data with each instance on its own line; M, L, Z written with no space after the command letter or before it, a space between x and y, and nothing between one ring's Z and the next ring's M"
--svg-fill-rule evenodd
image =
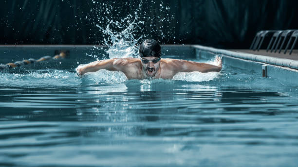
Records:
M253 70L264 78L277 78L280 82L298 83L298 61L264 55L240 53L201 45L192 45L198 58L211 59L215 54L223 57L224 65ZM224 69L224 68L223 68ZM264 72L264 73L263 73Z

